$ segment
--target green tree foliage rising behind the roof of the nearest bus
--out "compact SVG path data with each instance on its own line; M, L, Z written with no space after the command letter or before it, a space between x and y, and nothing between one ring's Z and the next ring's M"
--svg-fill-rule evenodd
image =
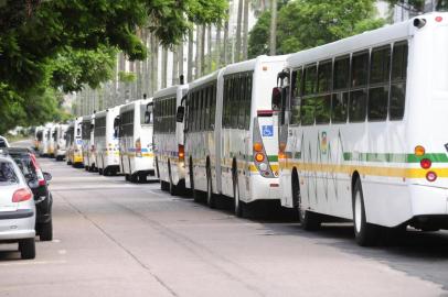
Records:
M384 25L374 0L295 0L278 12L277 53L295 53ZM268 53L270 13L250 31L249 54Z

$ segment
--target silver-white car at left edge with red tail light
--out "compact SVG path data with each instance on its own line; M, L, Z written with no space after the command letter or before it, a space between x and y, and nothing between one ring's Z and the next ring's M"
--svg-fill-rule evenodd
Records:
M34 258L34 226L33 193L15 163L0 150L0 243L18 242L21 257Z

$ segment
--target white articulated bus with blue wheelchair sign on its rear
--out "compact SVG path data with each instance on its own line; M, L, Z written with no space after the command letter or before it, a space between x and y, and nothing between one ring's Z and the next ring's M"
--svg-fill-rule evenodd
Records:
M279 200L278 135L271 89L286 56L230 65L190 85L185 113L186 186L198 199L233 197L235 215L257 200Z

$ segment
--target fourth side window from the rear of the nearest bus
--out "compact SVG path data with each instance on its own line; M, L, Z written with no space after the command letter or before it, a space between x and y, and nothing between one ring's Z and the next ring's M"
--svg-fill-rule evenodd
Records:
M349 112L350 56L337 57L333 70L331 122L345 123Z

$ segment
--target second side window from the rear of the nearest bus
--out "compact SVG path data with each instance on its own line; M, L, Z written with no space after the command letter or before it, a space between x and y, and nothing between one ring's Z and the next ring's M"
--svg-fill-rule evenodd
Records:
M385 121L387 118L391 46L373 48L371 55L369 87L369 121Z

